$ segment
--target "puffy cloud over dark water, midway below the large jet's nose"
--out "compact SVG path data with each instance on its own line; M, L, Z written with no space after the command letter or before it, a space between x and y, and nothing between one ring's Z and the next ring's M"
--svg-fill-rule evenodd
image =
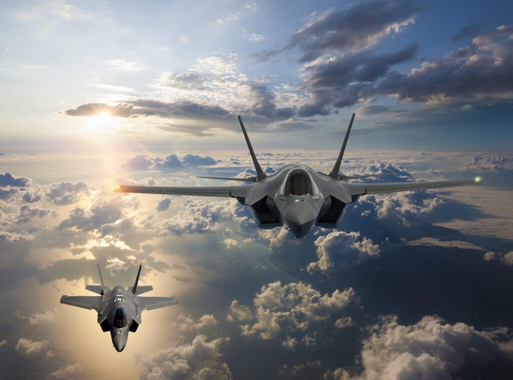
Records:
M262 339L273 339L282 331L306 331L311 323L324 321L331 313L346 307L356 299L352 288L343 292L335 290L331 295L321 293L303 283L281 284L280 281L263 286L253 299L253 325L240 326L242 335L255 335ZM233 305L233 302L232 302ZM238 319L241 308L230 305L229 314Z

